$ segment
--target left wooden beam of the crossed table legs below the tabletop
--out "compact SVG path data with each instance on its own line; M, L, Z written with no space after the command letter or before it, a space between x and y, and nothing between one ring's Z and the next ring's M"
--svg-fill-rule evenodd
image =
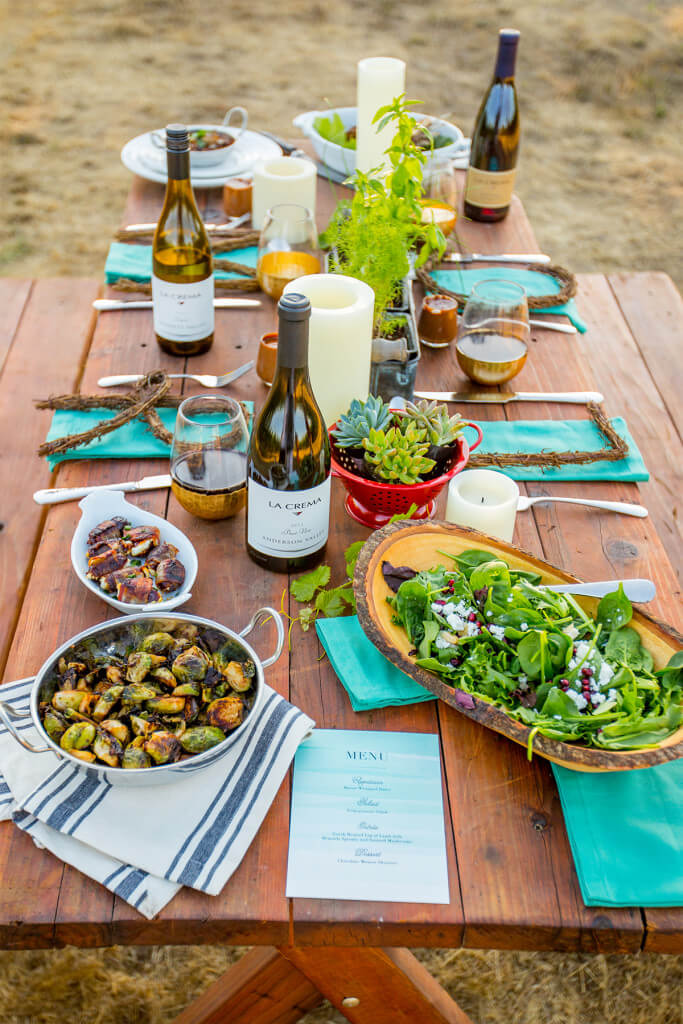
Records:
M257 946L221 975L173 1024L295 1024L323 996L269 946Z

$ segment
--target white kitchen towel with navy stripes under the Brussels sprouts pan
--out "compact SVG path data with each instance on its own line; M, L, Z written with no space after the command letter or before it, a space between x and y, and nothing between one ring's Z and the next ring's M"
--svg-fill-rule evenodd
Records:
M0 686L0 700L26 713L32 685ZM30 719L14 727L42 745ZM154 918L180 886L221 891L312 727L265 686L252 727L224 757L168 784L128 787L51 752L30 753L0 723L0 820Z

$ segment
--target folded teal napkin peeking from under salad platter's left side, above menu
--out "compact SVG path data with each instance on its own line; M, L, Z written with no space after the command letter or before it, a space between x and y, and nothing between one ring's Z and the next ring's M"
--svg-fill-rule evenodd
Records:
M315 630L353 711L436 699L380 654L362 632L356 615L317 618Z

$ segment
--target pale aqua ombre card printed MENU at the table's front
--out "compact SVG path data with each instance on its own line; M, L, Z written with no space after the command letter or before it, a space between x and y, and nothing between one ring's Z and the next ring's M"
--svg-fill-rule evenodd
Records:
M287 895L450 901L438 736L315 729L301 743Z

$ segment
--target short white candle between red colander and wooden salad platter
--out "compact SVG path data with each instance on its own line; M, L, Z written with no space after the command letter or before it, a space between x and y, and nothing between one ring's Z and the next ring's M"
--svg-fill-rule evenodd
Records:
M473 526L501 541L511 541L518 499L519 487L505 473L467 469L449 484L446 522Z

